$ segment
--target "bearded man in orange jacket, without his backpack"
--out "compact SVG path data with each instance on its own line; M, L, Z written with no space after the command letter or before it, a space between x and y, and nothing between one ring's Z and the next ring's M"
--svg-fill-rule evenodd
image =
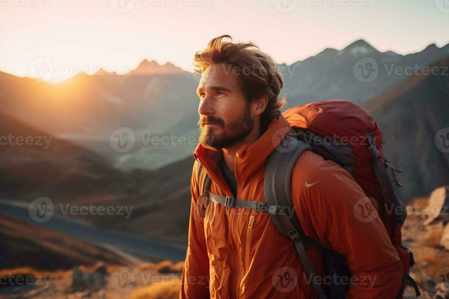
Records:
M212 39L194 57L202 74L201 134L180 298L317 298L290 238L267 213L210 202L202 215L200 164L212 193L264 201L265 160L281 141L273 136L284 137L290 128L280 113L285 100L278 99L283 82L277 66L253 43L224 42L225 37L230 38ZM355 278L347 298L396 297L401 260L379 217L363 222L354 215L354 204L365 195L347 171L303 152L292 172L291 197L305 234L346 258ZM321 254L307 254L324 279Z

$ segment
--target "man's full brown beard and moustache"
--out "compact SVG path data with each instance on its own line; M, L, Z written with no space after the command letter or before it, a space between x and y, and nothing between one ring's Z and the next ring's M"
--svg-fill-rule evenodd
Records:
M232 147L234 144L241 142L254 127L254 119L251 117L251 106L247 104L243 113L225 124L225 121L216 116L200 117L198 126L201 133L199 143L207 149L219 151L223 148ZM215 123L223 128L223 133L214 134L213 128L205 128L205 123Z

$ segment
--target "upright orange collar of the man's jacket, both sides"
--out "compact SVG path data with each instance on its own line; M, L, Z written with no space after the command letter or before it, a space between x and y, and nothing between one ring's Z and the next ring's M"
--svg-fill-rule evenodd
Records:
M246 181L252 173L265 163L268 156L290 133L291 126L281 114L273 118L268 129L253 143L243 144L236 152L235 172L239 182ZM212 151L198 144L194 151L194 158L207 170L214 182L225 186L223 177L217 173L216 162L223 158L223 151ZM226 188L225 188L226 189Z

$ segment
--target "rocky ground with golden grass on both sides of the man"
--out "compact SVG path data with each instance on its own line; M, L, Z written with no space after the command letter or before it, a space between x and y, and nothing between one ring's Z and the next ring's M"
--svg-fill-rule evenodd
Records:
M402 229L403 244L414 253L416 261L410 275L418 283L420 299L449 299L449 289L445 287L445 282L449 282L449 250L441 245L446 220L436 217L426 225L428 213L422 207L427 204L427 198L415 199ZM182 262L129 267L97 264L57 273L34 273L34 284L2 286L0 298L178 298ZM0 271L1 275L5 274ZM51 277L51 281L46 284L41 278L38 283L39 276ZM406 288L404 298L416 298L413 287Z

